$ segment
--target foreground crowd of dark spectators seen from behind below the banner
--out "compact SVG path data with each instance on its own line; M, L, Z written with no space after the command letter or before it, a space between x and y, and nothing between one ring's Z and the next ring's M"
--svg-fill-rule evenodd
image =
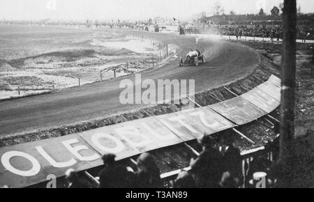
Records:
M239 148L234 147L232 135L214 139L204 135L198 139L202 153L190 160L190 170L182 170L174 180L174 188L238 188L243 185L242 158ZM115 160L116 155L103 156L103 169L98 174L100 188L163 188L160 169L153 155L143 153L137 158L136 167L121 166ZM251 169L254 176L267 172L271 162L258 160ZM265 166L266 165L266 166ZM256 171L262 171L256 173ZM263 174L262 174L263 175ZM86 187L78 180L74 170L66 173L69 188ZM252 186L254 182L252 182ZM268 182L271 185L271 180Z

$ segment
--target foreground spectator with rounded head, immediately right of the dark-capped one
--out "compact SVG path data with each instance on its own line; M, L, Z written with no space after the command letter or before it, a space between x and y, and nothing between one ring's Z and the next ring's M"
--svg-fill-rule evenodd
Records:
M140 188L161 188L163 182L160 179L160 170L153 155L143 153L137 158L135 183Z

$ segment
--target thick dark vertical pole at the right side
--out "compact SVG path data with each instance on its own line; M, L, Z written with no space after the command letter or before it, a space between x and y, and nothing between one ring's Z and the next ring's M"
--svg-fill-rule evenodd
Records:
M294 102L296 77L297 0L285 0L283 8L283 67L281 72L281 136L278 164L280 187L292 187L294 164Z

